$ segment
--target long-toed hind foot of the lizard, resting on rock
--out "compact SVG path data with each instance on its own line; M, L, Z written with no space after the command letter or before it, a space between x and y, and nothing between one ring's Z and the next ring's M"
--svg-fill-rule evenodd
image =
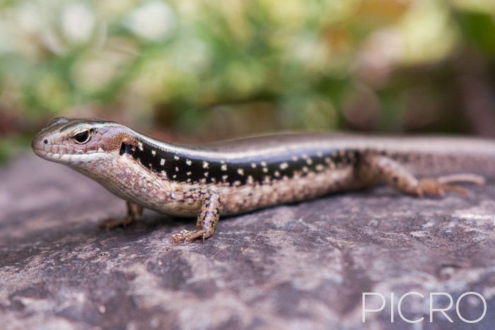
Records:
M426 178L419 179L416 189L414 189L414 194L422 196L445 196L445 191L455 191L459 194L468 196L469 191L465 187L461 187L458 184L460 182L474 183L474 184L484 184L484 177L472 174L458 174L458 175L448 175L445 177L438 177L436 179Z

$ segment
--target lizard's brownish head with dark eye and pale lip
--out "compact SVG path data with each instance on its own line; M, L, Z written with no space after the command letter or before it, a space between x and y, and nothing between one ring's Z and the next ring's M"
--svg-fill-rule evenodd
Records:
M83 165L119 152L125 127L101 119L57 117L36 134L31 146L36 155L56 163Z

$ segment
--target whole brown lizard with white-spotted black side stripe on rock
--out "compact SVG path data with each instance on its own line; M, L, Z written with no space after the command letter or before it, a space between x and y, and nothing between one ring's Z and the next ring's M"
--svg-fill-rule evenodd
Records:
M342 134L263 136L209 146L157 141L100 119L54 118L33 139L33 151L95 179L128 202L128 225L142 208L197 216L194 231L173 242L211 237L220 215L303 201L332 191L388 184L414 196L467 191L495 174L495 142L460 138L392 138ZM416 175L449 175L417 179Z

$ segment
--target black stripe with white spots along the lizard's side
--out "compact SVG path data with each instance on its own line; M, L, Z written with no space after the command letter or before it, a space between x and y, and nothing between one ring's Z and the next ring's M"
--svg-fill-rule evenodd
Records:
M322 172L329 167L342 168L356 164L359 153L354 150L304 150L299 153L274 155L261 158L244 158L240 160L204 159L187 153L170 153L140 141L139 146L122 143L120 155L128 154L141 165L154 172L165 172L168 179L177 182L228 182L229 184L246 184L264 182L269 179L291 178L298 172L301 176L309 172ZM153 153L154 151L154 153ZM252 164L255 164L253 167Z

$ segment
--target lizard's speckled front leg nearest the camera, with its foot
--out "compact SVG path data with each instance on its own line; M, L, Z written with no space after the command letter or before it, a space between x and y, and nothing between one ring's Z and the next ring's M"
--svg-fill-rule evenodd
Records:
M172 242L191 242L197 238L205 240L215 232L220 218L220 196L212 191L203 196L202 206L196 222L196 230L182 230L172 235Z

